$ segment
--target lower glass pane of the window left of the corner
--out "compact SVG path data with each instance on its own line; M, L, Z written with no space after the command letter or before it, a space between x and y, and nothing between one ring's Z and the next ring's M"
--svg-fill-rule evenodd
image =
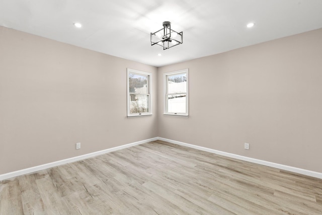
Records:
M130 95L130 113L148 113L149 96L148 95Z

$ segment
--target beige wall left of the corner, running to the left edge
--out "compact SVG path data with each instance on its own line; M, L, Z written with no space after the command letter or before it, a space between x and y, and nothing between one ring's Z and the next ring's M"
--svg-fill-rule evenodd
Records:
M127 67L156 92L156 67L0 27L0 174L156 137L126 117Z

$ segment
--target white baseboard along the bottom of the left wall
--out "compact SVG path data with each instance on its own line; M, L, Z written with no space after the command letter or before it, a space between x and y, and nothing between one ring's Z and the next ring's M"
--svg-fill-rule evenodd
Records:
M6 179L9 179L9 178L13 178L13 177L16 177L16 176L25 175L25 174L33 173L33 172L36 172L36 171L44 170L44 169L51 168L51 167L55 167L55 166L59 166L59 165L63 165L63 164L67 164L67 163L71 163L71 162L75 162L75 161L80 161L80 160L84 160L84 159L87 159L87 158L92 158L92 157L95 157L95 156L98 156L98 155L103 155L103 154L106 154L106 153L109 153L109 152L114 152L114 151L117 151L117 150L133 147L133 146L144 144L145 142L154 141L154 140L157 140L157 139L158 139L157 137L150 138L150 139L145 139L145 140L142 140L142 141L132 142L131 144L126 144L126 145L123 145L123 146L114 147L114 148L107 149L107 150L102 150L102 151L98 151L98 152L94 152L94 153L90 153L90 154L86 154L86 155L81 155L81 156L77 156L77 157L73 157L73 158L68 158L68 159L61 160L61 161L56 161L56 162L52 162L52 163L48 163L48 164L43 164L43 165L36 166L36 167L31 167L31 168L27 168L27 169L23 169L23 170L18 170L18 171L15 171L15 172L6 173L6 174L3 174L3 175L0 175L0 181L6 180Z

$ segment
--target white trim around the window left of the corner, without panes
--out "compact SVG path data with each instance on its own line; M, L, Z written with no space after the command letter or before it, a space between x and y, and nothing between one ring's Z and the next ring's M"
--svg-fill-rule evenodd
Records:
M148 95L149 98L149 102L148 102L148 106L149 106L149 112L146 113L130 113L130 82L129 82L129 74L136 74L136 75L140 75L140 76L147 76L147 85L148 85L148 93L146 95ZM127 117L138 117L138 116L148 116L148 115L152 115L152 87L151 87L151 83L152 83L152 73L147 73L146 71L140 71L140 70L136 70L136 69L132 69L132 68L127 68ZM145 95L145 94L144 94Z

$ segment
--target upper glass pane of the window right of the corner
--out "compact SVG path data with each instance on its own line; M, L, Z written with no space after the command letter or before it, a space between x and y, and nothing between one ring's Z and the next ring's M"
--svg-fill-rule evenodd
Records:
M167 76L168 94L172 93L187 93L187 74L176 74Z

